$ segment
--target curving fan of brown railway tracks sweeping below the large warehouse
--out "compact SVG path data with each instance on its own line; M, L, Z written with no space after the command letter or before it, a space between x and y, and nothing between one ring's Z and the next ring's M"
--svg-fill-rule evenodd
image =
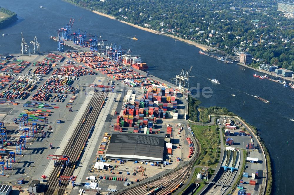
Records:
M198 142L196 142L194 139L193 139L193 142L194 144L196 143L197 145L197 151L193 155L192 159L188 161L188 163L184 164L182 167L176 167L175 169L172 170L172 172L168 172L159 178L155 178L149 182L135 185L135 187L119 191L115 194L123 194L123 195L148 194L149 195L150 193L150 195L151 194L164 195L164 194L167 194L167 192L171 194L171 191L176 190L176 186L178 186L178 184L186 182L186 180L190 176L190 171L193 168L193 164L197 160L200 154L200 150L198 149L200 146L198 145ZM154 186L153 189L161 188L162 186L163 188L159 189L156 193L151 193L153 189L151 189L150 191L146 191L146 185L149 185L149 186L153 185Z

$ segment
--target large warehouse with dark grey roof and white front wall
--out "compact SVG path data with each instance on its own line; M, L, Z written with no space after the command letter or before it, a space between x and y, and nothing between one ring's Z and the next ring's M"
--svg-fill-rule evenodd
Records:
M113 134L106 158L123 160L162 161L164 138L140 134Z

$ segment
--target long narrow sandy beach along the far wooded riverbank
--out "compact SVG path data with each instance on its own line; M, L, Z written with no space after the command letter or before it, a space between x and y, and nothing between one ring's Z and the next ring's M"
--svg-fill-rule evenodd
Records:
M113 19L113 20L118 20L118 19L116 19L115 17L113 17L113 16L109 16L109 15L107 15L107 14L105 14L105 13L101 13L101 12L98 12L98 11L92 11L92 12L94 12L94 13L96 13L96 14L99 14L99 15L101 15L101 16L105 16L105 17L107 17L107 18ZM135 25L135 24L131 24L131 23L128 23L128 22L122 21L122 20L118 20L118 21L120 21L120 22L122 22L122 23L125 23L125 24L127 24L127 25L130 25L130 26L133 26L133 27L135 27L135 28L138 28L138 29L141 29L141 30L148 31L148 32L150 32L150 33L155 33L155 34L158 34L158 35L166 35L166 36L168 36L168 37L172 37L172 38L174 38L174 39L177 39L177 40L183 41L183 42L185 42L185 43L188 43L188 44L190 44L190 45L194 45L194 46L196 46L196 47L198 47L198 48L200 48L200 49L202 49L202 50L204 50L204 51L207 50L207 49L212 49L212 47L209 47L209 46L206 46L206 45L202 45L202 44L196 43L196 42L191 41L191 40L185 40L185 39L182 39L182 38L176 37L176 36L174 36L174 35L162 34L162 33L158 32L158 31L156 31L156 30L151 30L151 29L149 29L149 28L144 28L144 27L141 27L141 26L138 26L138 25Z

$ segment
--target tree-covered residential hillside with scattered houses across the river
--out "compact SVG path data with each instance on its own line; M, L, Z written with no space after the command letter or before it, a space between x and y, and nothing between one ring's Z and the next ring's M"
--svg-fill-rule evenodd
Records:
M253 61L253 66L265 63L294 70L294 24L292 19L277 11L277 1L66 1L132 24L217 47L228 54L233 54L233 49L248 50L255 59L263 59ZM215 31L212 37L209 36L211 30ZM250 43L257 45L250 46Z

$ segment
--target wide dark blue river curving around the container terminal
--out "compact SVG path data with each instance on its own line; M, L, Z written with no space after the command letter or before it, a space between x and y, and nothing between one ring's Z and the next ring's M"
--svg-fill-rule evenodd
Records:
M291 168L294 160L294 122L290 120L294 118L293 89L255 78L255 71L251 69L224 64L201 55L194 46L133 28L64 1L1 1L0 6L16 12L19 18L16 23L0 30L0 34L9 34L0 36L0 53L19 53L21 32L24 32L28 44L37 36L40 51L56 51L57 43L49 37L56 36L57 29L64 27L70 18L75 18L73 30L80 28L97 37L101 35L108 43L116 43L124 49L131 48L133 55L141 55L148 64L151 74L166 81L175 77L182 68L193 66L190 75L195 77L190 78L190 87L199 83L201 89L210 87L213 90L211 98L200 95L202 106L227 107L258 127L273 160L274 194L291 194L291 175L294 174ZM81 18L80 21L78 18ZM138 41L131 39L135 35ZM209 80L212 78L221 84L212 83ZM256 94L271 103L266 104L250 96Z

